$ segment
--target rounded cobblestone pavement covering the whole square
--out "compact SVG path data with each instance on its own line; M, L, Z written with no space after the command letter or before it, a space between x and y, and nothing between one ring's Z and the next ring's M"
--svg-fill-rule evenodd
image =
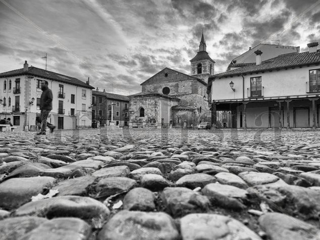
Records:
M320 239L318 130L0 133L0 239Z

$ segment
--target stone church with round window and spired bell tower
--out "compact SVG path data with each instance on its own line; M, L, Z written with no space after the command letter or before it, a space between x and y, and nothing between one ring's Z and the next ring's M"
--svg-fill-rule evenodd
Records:
M166 67L141 83L142 92L129 95L130 127L190 127L211 122L206 89L215 62L206 52L203 33L199 52L190 63L191 75Z

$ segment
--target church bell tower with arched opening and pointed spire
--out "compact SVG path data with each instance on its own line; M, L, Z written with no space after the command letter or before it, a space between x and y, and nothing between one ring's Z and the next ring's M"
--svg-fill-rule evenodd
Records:
M203 79L208 82L208 77L214 74L214 64L215 62L209 57L207 53L207 45L204 40L204 35L202 31L202 36L199 44L199 52L196 57L190 60L191 63L191 76Z

